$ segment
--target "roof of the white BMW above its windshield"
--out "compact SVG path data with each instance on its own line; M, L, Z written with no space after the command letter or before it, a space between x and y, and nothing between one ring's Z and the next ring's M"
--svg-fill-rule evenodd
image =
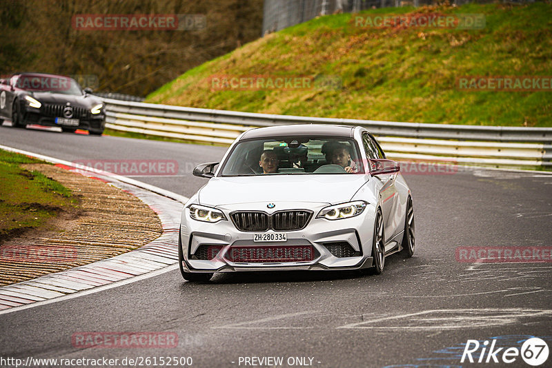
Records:
M294 136L294 135L319 135L319 136L347 136L353 137L355 127L350 125L326 125L326 124L298 124L275 125L273 127L257 127L248 130L242 139L266 138L268 136Z

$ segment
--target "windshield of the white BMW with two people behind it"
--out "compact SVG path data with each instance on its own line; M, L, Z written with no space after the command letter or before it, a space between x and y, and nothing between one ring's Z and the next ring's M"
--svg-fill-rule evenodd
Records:
M242 141L221 176L364 174L358 146L349 138L284 136Z

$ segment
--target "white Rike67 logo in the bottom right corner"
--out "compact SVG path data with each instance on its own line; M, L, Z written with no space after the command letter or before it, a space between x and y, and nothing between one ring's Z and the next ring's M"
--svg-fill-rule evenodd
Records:
M544 364L549 356L549 347L546 342L540 338L529 338L524 341L521 348L517 347L498 347L497 340L484 340L483 343L477 340L468 340L464 347L461 363L501 363L509 364L518 361L521 358L528 365L537 367Z

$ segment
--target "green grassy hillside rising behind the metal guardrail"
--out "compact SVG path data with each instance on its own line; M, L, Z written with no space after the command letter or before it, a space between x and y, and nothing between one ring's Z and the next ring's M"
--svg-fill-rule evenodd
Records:
M484 14L479 30L362 27L319 17L188 70L152 103L244 112L471 125L552 126L552 90L466 91L463 76L552 76L552 3L384 8L376 14ZM213 76L311 76L327 88L218 90Z

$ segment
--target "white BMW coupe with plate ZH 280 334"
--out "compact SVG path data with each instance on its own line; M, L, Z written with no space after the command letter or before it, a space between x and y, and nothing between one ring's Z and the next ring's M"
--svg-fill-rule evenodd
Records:
M215 169L216 167L216 169ZM184 279L215 272L371 269L414 252L411 191L364 127L281 125L248 130L184 206Z

